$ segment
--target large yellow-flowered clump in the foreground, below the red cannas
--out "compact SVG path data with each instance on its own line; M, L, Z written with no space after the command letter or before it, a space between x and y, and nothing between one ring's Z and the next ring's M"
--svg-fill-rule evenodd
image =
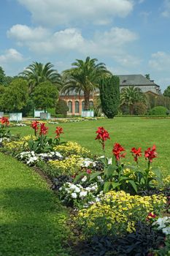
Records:
M123 235L134 232L139 219L145 222L150 212L158 214L165 204L164 195L141 197L110 191L101 202L79 211L77 221L85 236Z

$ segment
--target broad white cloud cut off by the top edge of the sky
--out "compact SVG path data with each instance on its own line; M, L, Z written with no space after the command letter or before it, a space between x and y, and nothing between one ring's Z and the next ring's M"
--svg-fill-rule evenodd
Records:
M57 26L81 23L107 24L115 16L126 17L132 0L18 0L36 23Z

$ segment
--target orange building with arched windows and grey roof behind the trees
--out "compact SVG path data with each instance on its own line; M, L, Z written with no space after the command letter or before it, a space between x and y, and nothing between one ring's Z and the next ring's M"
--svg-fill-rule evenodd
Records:
M120 78L120 91L121 89L129 86L138 87L143 93L150 93L159 95L161 94L160 86L154 83L154 80L149 80L144 77L144 75L117 75ZM95 94L98 94L96 90ZM90 95L90 105L93 107L93 96ZM67 94L61 94L61 99L67 102L69 107L69 116L81 116L82 110L84 109L85 100L82 91L80 94L75 93L75 91L69 91Z

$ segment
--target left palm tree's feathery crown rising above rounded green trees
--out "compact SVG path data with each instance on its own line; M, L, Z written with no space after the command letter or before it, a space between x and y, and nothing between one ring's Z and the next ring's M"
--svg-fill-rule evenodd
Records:
M61 84L61 75L58 74L57 70L52 69L53 67L53 64L50 62L47 64L33 62L33 64L29 65L20 73L23 78L28 80L30 92L32 92L39 83L45 81L50 81L50 83L55 83L56 85Z

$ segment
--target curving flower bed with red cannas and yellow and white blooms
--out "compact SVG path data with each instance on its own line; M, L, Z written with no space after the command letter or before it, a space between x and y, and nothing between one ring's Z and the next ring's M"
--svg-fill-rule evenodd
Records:
M33 121L34 136L15 138L6 132L8 125L9 121L2 118L1 151L29 166L39 167L53 181L53 189L61 201L76 210L74 225L80 230L81 243L88 243L87 255L98 253L94 238L98 244L103 243L104 254L100 255L121 255L127 246L127 255L135 255L137 246L125 247L126 238L136 239L136 244L142 238L146 243L143 255L168 252L170 176L162 178L161 170L152 167L157 157L155 146L144 151L147 167L142 169L139 167L142 148L131 148L134 165L122 162L126 152L119 143L112 148L112 159L105 156L109 132L104 127L98 127L96 132L103 156L93 157L77 143L61 142L62 127L56 127L55 138L51 139L47 138L45 123ZM165 219L161 219L163 214ZM149 231L152 238L145 241ZM119 248L117 252L114 243Z

